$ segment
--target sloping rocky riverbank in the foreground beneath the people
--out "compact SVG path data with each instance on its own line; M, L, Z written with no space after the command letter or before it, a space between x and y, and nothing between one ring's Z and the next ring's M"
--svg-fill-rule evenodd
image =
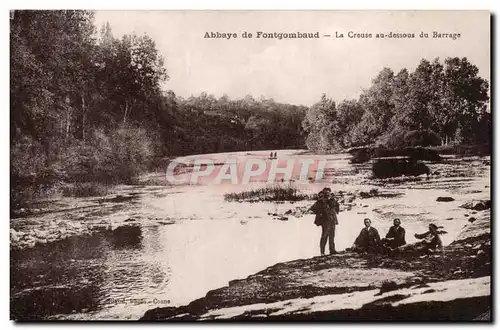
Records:
M141 320L489 320L490 210L442 252L342 252L279 263Z

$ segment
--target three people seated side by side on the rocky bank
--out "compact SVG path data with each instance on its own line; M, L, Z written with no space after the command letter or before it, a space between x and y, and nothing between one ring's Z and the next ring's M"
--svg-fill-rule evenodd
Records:
M415 234L420 239L413 244L406 244L405 230L401 227L401 220L394 219L394 225L389 229L385 238L380 239L377 229L371 226L371 220L364 220L365 227L361 230L354 241L352 248L347 249L354 252L367 253L397 253L415 252L430 253L443 247L438 229L435 224L429 224L429 230L423 234Z

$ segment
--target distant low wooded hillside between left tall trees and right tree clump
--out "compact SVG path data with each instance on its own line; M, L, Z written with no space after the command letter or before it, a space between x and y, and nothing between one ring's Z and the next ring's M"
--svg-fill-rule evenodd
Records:
M174 109L173 130L167 132L174 141L166 144L170 155L305 147L304 106L202 93L177 98Z

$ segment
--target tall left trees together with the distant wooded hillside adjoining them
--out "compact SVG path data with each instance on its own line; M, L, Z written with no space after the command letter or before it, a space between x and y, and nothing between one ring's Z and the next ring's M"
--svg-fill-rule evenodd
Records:
M177 97L162 90L155 42L98 30L91 11L15 11L10 23L13 190L131 182L165 156L304 146L305 107Z

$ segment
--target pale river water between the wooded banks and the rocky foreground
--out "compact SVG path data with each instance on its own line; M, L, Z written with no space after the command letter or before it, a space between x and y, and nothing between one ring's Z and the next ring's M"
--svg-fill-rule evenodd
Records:
M278 151L280 156L325 158ZM268 151L210 155L222 163L228 157L245 162L265 159ZM204 157L207 157L206 155ZM192 157L193 159L195 156ZM442 225L453 241L468 223L473 200L490 199L489 157L458 158L428 166L435 175L373 180L369 165L349 164L349 155L328 155L325 175L335 191L376 188L393 197L357 198L339 215L337 250L349 247L369 217L385 235L394 217L402 220L407 241L430 222ZM151 173L147 179L163 178ZM15 319L138 319L145 311L187 304L209 290L244 278L278 262L319 253L320 230L313 215L287 221L270 213L309 206L311 202L225 202L228 191L265 186L230 183L117 187L122 198L61 198L43 214L13 219L11 228L26 248L11 248L11 316ZM320 187L305 184L309 193ZM125 197L124 197L125 196ZM438 203L439 196L455 200ZM473 216L473 215L472 215ZM122 227L128 225L129 227ZM88 230L102 226L101 231ZM41 238L62 228L86 235L69 235L50 242ZM75 229L76 228L76 229ZM83 229L82 229L83 228ZM65 229L66 230L66 229Z

